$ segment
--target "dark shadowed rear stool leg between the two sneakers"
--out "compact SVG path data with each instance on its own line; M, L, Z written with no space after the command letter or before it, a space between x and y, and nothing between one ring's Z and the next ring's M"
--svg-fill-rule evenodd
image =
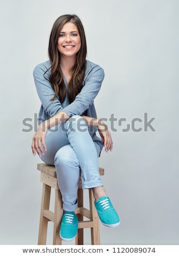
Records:
M78 188L78 207L83 207L83 189ZM78 215L78 221L83 221L83 215ZM83 228L78 229L78 234L75 237L75 245L84 245Z

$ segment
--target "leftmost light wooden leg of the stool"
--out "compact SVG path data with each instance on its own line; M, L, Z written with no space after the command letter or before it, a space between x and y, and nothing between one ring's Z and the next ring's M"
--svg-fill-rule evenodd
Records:
M48 219L46 217L44 217L44 210L49 209L50 196L51 196L51 187L46 185L46 184L43 184L42 199L41 199L41 210L40 210L38 245L46 245L46 241L47 241Z

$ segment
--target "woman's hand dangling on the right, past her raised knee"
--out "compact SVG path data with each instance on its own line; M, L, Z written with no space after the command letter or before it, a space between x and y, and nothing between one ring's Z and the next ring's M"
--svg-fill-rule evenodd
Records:
M112 151L113 149L113 141L108 130L108 127L101 121L98 120L98 132L100 133L102 143L104 144L105 151Z

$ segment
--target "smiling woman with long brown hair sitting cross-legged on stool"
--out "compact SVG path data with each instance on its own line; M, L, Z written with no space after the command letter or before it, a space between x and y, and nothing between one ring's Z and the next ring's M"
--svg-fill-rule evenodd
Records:
M71 241L78 230L79 167L83 189L92 188L101 222L108 227L120 222L98 172L101 150L104 146L106 152L111 151L113 142L106 125L97 119L93 103L104 72L86 60L87 44L78 16L62 15L54 22L48 56L50 60L33 72L41 108L32 151L57 170L64 209L60 237Z

